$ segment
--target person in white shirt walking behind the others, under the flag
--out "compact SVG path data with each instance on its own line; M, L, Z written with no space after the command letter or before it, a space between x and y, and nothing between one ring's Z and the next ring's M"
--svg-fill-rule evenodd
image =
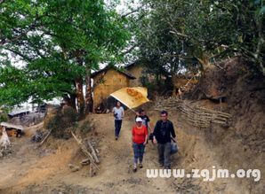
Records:
M124 118L124 107L121 106L121 103L119 101L116 102L116 106L113 108L112 113L115 118L115 139L117 140L122 128L122 122Z

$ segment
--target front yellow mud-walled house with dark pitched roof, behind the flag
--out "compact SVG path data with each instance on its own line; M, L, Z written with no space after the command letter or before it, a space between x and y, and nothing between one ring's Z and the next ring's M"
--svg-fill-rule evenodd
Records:
M107 66L92 74L93 110L109 97L111 93L124 87L130 87L135 77L114 66Z

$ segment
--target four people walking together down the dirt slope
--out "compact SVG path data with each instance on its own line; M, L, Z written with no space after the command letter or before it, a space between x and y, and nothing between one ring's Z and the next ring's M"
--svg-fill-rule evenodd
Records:
M116 103L113 109L115 117L115 138L118 140L124 117L124 108L120 102ZM157 144L158 162L160 167L171 168L171 142L176 142L176 135L173 122L168 120L168 113L162 111L160 120L157 120L155 128L151 128L150 120L144 110L136 113L135 124L132 126L132 148L133 148L133 172L137 168L142 168L142 160L146 144L149 140L152 144Z

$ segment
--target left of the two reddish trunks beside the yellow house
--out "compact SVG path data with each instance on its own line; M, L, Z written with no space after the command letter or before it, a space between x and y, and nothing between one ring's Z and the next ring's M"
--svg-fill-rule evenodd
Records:
M80 118L84 118L84 91L83 91L83 79L76 79L76 99L77 109L80 114Z

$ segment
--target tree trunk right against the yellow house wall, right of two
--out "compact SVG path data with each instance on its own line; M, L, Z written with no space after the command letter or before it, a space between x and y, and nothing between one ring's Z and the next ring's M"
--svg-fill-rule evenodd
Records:
M87 68L86 69L86 74L85 74L85 114L92 113L92 81L91 81L91 69Z

